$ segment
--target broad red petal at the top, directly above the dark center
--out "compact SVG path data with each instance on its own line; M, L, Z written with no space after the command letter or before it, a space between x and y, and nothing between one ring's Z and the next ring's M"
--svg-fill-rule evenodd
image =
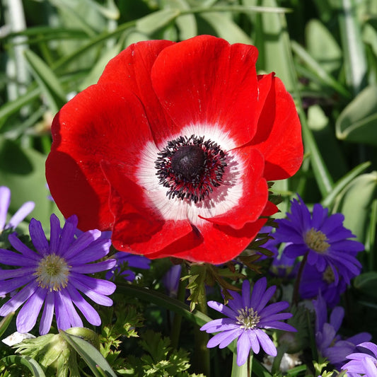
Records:
M241 146L253 138L259 117L256 60L254 46L199 35L158 54L151 71L153 88L178 129L218 124ZM159 146L166 130L154 124L153 130Z

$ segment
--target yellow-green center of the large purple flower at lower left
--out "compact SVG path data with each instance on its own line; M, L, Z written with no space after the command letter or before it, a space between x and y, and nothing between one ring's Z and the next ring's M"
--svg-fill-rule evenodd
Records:
M56 254L50 254L43 257L35 271L38 286L50 289L51 291L60 291L68 284L69 265L64 258Z

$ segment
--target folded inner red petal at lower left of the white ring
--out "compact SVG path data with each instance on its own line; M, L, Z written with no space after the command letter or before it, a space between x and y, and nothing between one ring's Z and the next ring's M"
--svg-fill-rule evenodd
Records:
M165 221L153 208L148 193L127 178L122 165L103 161L101 168L112 187L110 208L115 216L112 243L117 250L149 255L192 231L187 220Z

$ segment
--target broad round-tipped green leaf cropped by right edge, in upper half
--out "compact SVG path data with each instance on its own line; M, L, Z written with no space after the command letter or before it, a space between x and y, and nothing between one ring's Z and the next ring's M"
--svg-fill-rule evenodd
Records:
M377 146L377 86L368 86L341 112L335 129L342 140Z

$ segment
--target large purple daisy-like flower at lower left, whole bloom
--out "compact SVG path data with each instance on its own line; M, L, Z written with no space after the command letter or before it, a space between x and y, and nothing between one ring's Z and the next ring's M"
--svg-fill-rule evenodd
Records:
M17 251L0 249L0 263L19 267L1 269L0 294L21 288L1 306L0 315L22 306L17 315L17 330L29 332L43 306L40 335L49 332L54 313L59 329L82 327L76 308L88 323L100 325L97 311L81 294L99 305L112 305L108 295L115 291L115 284L87 275L115 265L115 260L93 263L109 253L111 241L101 238L101 232L96 229L76 237L77 216L69 217L61 228L59 219L52 214L50 224L50 243L40 221L31 219L29 231L35 250L21 242L16 233L8 240Z

